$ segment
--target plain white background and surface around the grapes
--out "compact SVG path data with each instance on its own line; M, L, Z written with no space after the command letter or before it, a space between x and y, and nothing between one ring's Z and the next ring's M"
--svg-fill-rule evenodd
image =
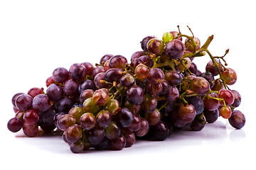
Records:
M0 1L1 167L10 169L255 169L255 5L253 1ZM201 132L181 131L164 142L137 142L122 151L72 154L60 137L19 137L6 123L14 117L11 97L46 88L56 67L99 62L107 53L141 50L146 35L177 30L205 42L226 57L242 95L238 108L247 123L228 121ZM194 60L204 71L208 57Z

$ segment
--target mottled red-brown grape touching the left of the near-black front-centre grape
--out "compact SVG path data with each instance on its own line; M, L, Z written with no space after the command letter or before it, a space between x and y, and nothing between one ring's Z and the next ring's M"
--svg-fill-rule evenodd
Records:
M107 128L111 123L111 116L109 111L102 110L97 113L96 121L100 128Z

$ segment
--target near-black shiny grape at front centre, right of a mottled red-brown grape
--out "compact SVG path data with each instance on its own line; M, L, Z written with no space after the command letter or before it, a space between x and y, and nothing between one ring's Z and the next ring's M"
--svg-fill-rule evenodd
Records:
M117 113L117 122L122 128L127 128L132 124L133 120L132 112L128 108L122 108L121 111Z

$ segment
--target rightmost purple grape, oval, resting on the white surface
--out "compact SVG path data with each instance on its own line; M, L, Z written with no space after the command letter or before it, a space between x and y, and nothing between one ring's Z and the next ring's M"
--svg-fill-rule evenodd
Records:
M236 129L241 129L245 125L245 115L241 111L233 111L228 122Z

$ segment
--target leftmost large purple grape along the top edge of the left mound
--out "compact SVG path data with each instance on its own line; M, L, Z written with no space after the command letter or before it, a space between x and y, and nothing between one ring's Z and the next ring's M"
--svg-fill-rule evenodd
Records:
M57 69L53 70L53 80L57 83L64 83L70 78L68 69L64 67L58 67Z

